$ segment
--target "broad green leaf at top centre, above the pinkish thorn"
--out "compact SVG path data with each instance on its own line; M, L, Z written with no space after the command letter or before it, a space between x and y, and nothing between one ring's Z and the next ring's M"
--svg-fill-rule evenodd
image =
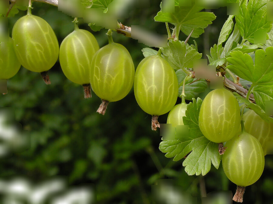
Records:
M174 13L163 13L160 10L154 20L172 23L186 35L189 35L194 29L191 37L197 38L204 33L204 28L212 24L211 21L216 18L211 12L200 12L202 9L203 7L197 6L195 1L192 1L192 6L175 6Z

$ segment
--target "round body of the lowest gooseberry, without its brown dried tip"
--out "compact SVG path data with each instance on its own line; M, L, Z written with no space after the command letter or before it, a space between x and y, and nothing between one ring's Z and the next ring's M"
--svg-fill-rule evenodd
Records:
M229 180L237 186L249 186L261 176L265 157L259 141L243 132L227 141L222 163L224 172Z

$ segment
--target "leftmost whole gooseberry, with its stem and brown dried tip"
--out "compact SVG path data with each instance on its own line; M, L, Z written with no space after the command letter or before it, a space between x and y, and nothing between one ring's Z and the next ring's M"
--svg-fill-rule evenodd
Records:
M42 18L27 15L16 21L12 29L13 46L19 62L32 72L40 72L50 84L47 71L56 63L59 43L50 25Z

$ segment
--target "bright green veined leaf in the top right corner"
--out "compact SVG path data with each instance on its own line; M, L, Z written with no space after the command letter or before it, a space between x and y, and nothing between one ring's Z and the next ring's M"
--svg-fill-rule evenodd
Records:
M241 36L252 44L256 31L268 33L271 29L272 21L267 21L266 18L267 2L268 0L245 0L239 15L235 17Z

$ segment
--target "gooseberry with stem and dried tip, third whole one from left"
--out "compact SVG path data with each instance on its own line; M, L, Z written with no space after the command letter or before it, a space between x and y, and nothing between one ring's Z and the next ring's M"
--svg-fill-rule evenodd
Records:
M97 112L105 114L108 102L123 99L134 82L134 64L128 50L114 43L108 31L109 44L100 48L90 66L90 83L94 93L102 99Z

